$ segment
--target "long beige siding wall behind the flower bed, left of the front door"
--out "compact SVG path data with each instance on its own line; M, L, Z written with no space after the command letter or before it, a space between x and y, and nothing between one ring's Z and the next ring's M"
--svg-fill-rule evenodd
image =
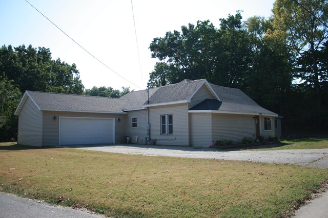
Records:
M255 119L253 115L212 114L212 139L241 142L243 137L255 139Z

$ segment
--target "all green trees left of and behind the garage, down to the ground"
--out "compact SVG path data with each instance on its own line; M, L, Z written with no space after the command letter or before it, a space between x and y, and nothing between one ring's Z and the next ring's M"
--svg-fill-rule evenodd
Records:
M0 141L17 137L14 111L26 90L82 94L75 64L52 60L49 49L20 45L0 48Z

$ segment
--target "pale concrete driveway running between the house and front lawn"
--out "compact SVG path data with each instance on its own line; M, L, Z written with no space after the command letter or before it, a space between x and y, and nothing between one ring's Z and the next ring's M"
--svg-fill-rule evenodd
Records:
M328 168L328 149L277 151L225 151L182 146L143 146L115 144L109 146L75 146L74 148L131 155L170 156L244 160L267 163L289 163L309 167Z

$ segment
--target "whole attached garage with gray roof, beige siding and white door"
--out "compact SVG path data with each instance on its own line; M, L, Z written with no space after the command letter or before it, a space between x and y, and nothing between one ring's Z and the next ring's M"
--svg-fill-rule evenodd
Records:
M26 91L18 115L18 143L69 146L122 143L128 100Z

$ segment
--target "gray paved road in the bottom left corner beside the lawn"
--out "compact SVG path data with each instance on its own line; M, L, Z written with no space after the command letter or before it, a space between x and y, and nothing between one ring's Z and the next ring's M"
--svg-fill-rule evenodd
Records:
M19 198L14 195L0 192L0 218L98 218L100 215L89 214L85 211L74 210L68 207L59 207L31 199Z

